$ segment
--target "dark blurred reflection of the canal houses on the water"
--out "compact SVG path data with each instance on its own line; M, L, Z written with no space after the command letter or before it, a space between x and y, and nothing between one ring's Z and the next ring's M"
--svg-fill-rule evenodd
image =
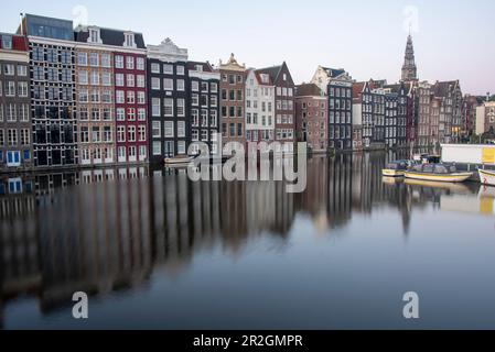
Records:
M388 209L407 237L411 213L427 207L493 215L491 189L384 179L387 160L400 157L314 157L306 191L294 195L283 182L191 183L181 170L143 167L4 176L0 312L34 297L50 317L77 290L105 297L148 285L154 272L181 276L207 249L241 255L259 237L288 242L298 217L331 237L353 216Z

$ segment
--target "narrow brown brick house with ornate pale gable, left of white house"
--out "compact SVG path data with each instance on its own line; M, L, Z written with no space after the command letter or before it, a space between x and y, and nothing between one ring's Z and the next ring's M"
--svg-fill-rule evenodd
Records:
M239 65L234 54L218 65L220 74L222 141L246 144L246 65Z

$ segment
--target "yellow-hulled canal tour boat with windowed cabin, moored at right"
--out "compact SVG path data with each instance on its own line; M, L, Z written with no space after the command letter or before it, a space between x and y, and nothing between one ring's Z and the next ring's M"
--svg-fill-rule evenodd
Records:
M458 172L453 165L445 164L424 164L416 165L405 173L406 178L433 180L441 183L463 183L467 180L473 173Z

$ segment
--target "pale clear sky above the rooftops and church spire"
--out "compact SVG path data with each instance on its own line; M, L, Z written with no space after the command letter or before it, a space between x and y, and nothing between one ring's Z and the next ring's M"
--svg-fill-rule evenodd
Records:
M286 61L295 84L319 65L396 82L411 32L421 80L495 92L493 0L7 0L0 31L14 32L21 12L141 32L147 44L170 37L194 61Z

